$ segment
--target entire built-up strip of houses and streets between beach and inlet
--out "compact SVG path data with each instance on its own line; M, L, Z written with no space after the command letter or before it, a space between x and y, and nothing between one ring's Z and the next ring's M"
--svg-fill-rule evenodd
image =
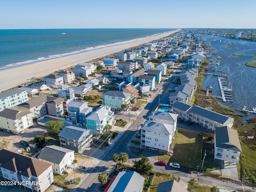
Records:
M242 134L256 119L216 102L233 92L202 35L256 41L255 30L183 29L1 92L0 190L255 191L255 134ZM222 96L202 87L207 74Z

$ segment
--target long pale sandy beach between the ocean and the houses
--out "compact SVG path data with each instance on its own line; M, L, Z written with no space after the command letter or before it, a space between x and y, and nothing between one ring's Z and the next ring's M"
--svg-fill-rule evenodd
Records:
M29 82L32 77L44 77L57 70L63 70L71 66L76 66L77 64L88 62L90 60L119 52L130 47L146 44L147 42L170 36L175 32L176 31L172 31L159 36L145 38L136 42L100 48L97 50L87 51L70 56L63 56L60 58L0 70L0 92Z

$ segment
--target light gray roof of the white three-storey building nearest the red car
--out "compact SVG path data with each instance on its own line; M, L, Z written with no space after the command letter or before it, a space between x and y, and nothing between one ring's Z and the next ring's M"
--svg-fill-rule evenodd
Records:
M145 121L144 125L141 129L144 129L146 131L152 131L152 132L158 132L170 135L172 133L173 125L163 124L163 123L156 123L152 121Z

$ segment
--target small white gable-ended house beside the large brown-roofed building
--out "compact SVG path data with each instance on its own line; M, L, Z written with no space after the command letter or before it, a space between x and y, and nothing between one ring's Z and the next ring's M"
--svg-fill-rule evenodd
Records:
M53 172L56 174L70 173L71 165L75 159L74 151L56 145L45 146L37 157L42 162L52 164Z

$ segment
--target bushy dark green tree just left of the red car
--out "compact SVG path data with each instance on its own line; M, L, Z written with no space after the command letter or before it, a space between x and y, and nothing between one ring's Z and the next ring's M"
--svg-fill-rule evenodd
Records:
M147 157L143 155L140 157L140 160L132 161L134 163L134 169L136 170L136 172L140 174L149 174L152 171L153 166L150 164L149 159Z

